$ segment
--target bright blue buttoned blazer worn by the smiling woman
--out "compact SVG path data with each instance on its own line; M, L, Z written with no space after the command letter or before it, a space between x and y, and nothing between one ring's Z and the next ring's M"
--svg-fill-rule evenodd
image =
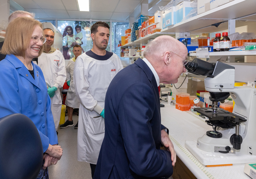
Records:
M35 79L14 55L6 55L0 62L0 118L14 113L28 116L36 125L45 152L49 144L58 144L58 138L43 72L32 64Z

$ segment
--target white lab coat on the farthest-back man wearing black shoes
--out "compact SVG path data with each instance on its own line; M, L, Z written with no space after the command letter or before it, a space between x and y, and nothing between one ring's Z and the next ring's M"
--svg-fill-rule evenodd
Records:
M66 67L66 73L67 73L67 81L70 80L70 86L68 88L68 93L66 97L65 104L71 108L79 108L80 102L78 98L76 97L75 93L75 84L74 84L74 67L75 67L75 57L70 59L68 62L68 65Z

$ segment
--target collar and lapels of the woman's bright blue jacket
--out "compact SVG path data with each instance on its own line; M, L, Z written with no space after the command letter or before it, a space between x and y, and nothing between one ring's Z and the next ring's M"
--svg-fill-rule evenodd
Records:
M8 60L10 63L13 64L13 66L17 69L18 73L26 78L28 81L30 81L33 85L39 88L38 82L39 82L39 70L37 66L31 61L33 68L34 68L34 76L35 79L30 75L28 69L26 66L14 55L6 55L6 60Z

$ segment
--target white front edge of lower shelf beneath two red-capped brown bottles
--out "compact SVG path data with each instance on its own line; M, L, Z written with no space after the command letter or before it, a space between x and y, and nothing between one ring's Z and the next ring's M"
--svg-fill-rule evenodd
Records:
M210 56L256 56L256 50L209 52L209 55ZM196 53L189 53L189 56L196 56Z

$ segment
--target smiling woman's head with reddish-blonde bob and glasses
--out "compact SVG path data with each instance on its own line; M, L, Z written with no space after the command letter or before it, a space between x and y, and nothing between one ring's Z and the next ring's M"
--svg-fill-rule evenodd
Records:
M42 54L45 41L41 22L27 17L16 18L6 29L1 53L32 60Z

